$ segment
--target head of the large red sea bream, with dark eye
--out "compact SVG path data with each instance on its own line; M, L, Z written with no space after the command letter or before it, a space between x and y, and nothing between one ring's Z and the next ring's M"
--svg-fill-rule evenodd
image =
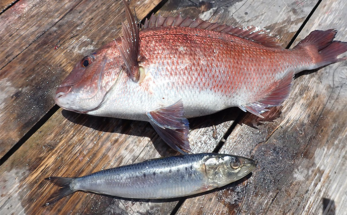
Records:
M102 105L124 66L116 45L106 45L83 57L58 87L57 105L65 110L88 113Z

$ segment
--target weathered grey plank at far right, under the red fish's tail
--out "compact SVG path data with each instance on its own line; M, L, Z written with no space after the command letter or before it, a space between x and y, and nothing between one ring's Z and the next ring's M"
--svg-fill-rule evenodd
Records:
M344 1L322 2L296 43L312 30L330 28L347 41L346 11ZM242 186L189 199L178 213L344 214L346 71L344 61L297 78L284 107L268 113L277 118L282 111L274 121L261 124L247 114L220 152L254 157L252 176Z

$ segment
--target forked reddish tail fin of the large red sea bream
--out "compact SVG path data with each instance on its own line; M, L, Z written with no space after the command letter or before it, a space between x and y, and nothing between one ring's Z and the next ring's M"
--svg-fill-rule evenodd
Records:
M347 59L337 58L338 55L347 51L347 42L333 41L337 30L312 31L305 39L301 40L294 48L307 49L314 56L316 64L313 68L329 65ZM310 68L310 69L313 69Z

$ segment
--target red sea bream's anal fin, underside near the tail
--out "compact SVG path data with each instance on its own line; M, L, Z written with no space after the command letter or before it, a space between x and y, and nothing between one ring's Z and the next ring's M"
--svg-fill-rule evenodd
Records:
M294 70L289 70L284 75L284 78L275 82L268 90L268 94L260 101L240 105L239 108L244 112L248 111L258 117L264 118L261 114L268 111L267 108L281 105L289 96Z

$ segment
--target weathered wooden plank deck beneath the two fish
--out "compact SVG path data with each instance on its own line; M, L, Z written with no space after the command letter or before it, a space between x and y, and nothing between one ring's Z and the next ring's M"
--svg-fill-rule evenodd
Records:
M131 1L138 19L200 17L269 29L284 47L335 28L347 41L347 2ZM157 6L159 4L159 6ZM157 7L156 7L157 6ZM176 155L149 123L93 117L54 106L56 87L82 56L119 36L120 1L0 3L0 214L347 214L347 61L301 73L267 121L230 108L190 120L193 153L258 161L247 180L170 201L57 190L43 179ZM347 54L344 54L347 55Z

